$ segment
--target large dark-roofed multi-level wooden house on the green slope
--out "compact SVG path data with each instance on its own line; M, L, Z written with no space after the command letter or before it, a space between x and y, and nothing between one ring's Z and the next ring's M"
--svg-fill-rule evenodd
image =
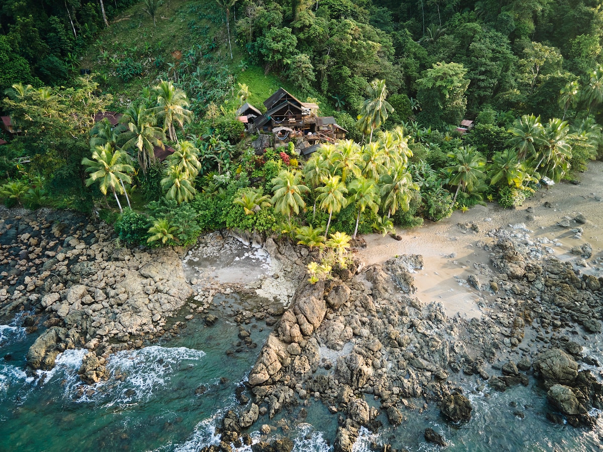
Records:
M332 116L318 116L318 105L301 102L280 88L264 101L266 113L254 119L260 133L273 133L275 142L303 139L310 145L335 142L346 136L346 130Z

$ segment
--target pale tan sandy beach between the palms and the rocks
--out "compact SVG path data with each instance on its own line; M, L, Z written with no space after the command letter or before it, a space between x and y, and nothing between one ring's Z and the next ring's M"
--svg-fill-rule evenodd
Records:
M467 278L491 265L490 252L484 247L494 242L488 236L490 231L506 228L523 234L525 240L539 244L546 253L575 263L580 271L603 274L603 162L591 162L589 171L579 174L578 181L579 184L561 182L543 187L516 209L488 203L465 213L455 211L437 223L399 229L402 240L369 234L364 236L367 247L359 250L357 256L370 265L402 254L420 254L425 266L415 274L414 295L425 303L440 301L449 316L479 317L486 301L482 299L496 295L475 289ZM575 220L579 214L586 223ZM569 221L569 226L558 224L563 219ZM578 263L581 256L570 253L572 247L585 243L592 246L586 267L584 262Z

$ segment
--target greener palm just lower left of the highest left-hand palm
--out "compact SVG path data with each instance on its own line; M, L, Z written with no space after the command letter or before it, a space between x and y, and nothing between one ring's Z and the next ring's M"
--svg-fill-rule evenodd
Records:
M148 164L155 160L155 146L164 147L165 133L157 127L157 117L142 104L130 105L120 121L128 128L127 132L121 134L124 141L121 148L124 151L137 149L140 169L146 173Z

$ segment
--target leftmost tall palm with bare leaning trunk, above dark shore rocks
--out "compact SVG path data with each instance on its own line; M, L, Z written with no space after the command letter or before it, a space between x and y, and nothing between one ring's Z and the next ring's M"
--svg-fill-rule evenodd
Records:
M84 157L81 164L87 166L86 172L90 173L90 177L86 180L86 186L89 187L96 181L100 184L100 190L103 195L107 195L107 189L111 189L115 201L119 207L119 212L124 212L121 207L121 202L117 197L115 187L121 193L122 187L119 186L120 181L125 181L128 184L132 183L129 172L133 172L134 168L127 163L123 163L125 159L124 152L120 149L113 151L111 145L96 146L92 151L92 160ZM124 190L125 192L125 190ZM125 193L126 199L128 194ZM128 199L128 205L130 201Z

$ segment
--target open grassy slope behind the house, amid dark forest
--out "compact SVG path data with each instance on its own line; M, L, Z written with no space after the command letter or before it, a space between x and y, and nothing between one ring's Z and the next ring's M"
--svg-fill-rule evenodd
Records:
M124 110L135 101L142 89L158 83L160 78L171 76L171 67L178 64L178 52L182 56L192 48L207 47L209 43L214 60L235 75L238 83L250 87L250 104L264 111L263 102L280 87L291 92L301 101L308 97L317 99L322 115L333 115L330 99L317 92L305 93L284 78L264 75L259 66L245 66L242 61L247 52L239 48L233 36L235 24L231 24L233 58L230 58L224 13L213 1L169 0L159 8L157 26L143 10L143 4L133 5L113 20L106 30L99 33L95 43L81 57L81 67L89 68L98 77L101 87L114 96L113 110ZM213 44L215 43L215 45ZM182 57L180 57L182 58ZM131 65L140 64L142 74L124 81L124 61ZM235 84L235 93L237 87ZM236 99L231 99L227 109L236 108Z

